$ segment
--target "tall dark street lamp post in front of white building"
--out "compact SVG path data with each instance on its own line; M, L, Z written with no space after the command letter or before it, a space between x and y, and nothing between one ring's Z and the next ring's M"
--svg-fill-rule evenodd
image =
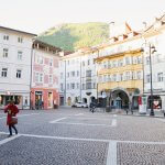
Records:
M145 46L148 47L148 55L150 55L150 86L151 86L151 111L150 111L150 116L155 116L154 114L154 109L153 109L153 70L152 70L152 54L156 52L155 46L152 45L151 43L144 43ZM142 50L142 52L144 52L144 50ZM144 73L144 61L143 61L143 73ZM144 80L144 75L143 75L143 80ZM144 92L144 87L143 87L143 92Z

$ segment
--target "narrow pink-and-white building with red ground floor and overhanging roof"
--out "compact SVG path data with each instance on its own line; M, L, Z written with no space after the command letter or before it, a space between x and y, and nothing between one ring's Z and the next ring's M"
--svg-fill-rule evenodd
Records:
M33 42L31 108L53 109L59 105L58 62L61 48Z

